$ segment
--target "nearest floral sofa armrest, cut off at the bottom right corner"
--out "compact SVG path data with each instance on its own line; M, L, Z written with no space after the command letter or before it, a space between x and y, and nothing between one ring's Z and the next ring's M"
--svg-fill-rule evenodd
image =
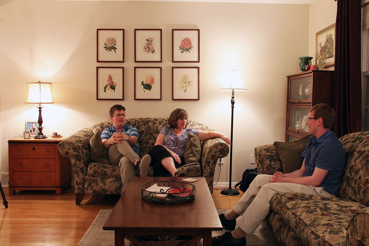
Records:
M352 218L346 233L346 245L369 245L369 208Z

